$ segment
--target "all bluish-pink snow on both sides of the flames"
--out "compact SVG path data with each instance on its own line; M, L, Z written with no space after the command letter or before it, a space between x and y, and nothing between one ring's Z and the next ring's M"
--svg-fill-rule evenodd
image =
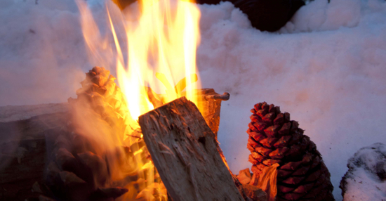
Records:
M89 61L73 0L0 1L0 105L65 102ZM88 1L105 15L102 0ZM315 0L279 32L260 32L230 3L201 5L201 82L231 94L218 138L232 171L251 167L249 110L267 101L290 112L317 144L334 196L359 148L385 142L386 3ZM100 22L105 23L105 22Z

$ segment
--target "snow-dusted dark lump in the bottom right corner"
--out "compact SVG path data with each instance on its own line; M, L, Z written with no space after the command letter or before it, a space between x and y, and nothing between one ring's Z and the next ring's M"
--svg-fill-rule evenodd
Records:
M386 145L361 148L347 162L340 181L343 200L386 200Z

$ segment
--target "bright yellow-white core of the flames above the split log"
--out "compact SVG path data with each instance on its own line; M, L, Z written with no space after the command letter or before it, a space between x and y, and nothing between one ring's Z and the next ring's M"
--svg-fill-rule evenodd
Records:
M185 70L187 83L192 83L190 74L196 73L199 10L189 2L177 1L175 4L171 5L171 2L164 0L141 2L142 15L138 25L124 26L128 41L127 69L109 16L118 52L118 81L126 94L133 119L138 119L140 115L153 109L152 103L147 98L147 90L143 86L150 84L152 89L159 88L159 84L154 80L155 72L159 76L162 74L162 77L166 77L173 85L178 81L173 79L176 77L173 76L175 72L181 73ZM172 6L176 8L172 10ZM153 64L149 63L152 59ZM170 84L164 84L166 102L182 96L181 91L173 90ZM187 93L187 98L197 103L192 93Z

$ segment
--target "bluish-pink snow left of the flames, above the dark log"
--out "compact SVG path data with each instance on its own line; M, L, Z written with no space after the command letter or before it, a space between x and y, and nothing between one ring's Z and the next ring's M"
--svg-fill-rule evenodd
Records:
M0 105L65 102L84 78L76 4L37 2L0 1Z

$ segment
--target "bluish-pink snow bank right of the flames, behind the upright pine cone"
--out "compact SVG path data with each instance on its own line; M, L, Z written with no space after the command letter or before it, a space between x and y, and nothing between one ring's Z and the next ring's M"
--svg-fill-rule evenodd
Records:
M233 171L251 167L249 110L267 101L290 112L317 144L334 196L342 199L347 159L366 144L386 143L385 6L313 1L281 34L252 29L232 4L200 6L198 65L204 87L231 94L222 103L218 138Z

